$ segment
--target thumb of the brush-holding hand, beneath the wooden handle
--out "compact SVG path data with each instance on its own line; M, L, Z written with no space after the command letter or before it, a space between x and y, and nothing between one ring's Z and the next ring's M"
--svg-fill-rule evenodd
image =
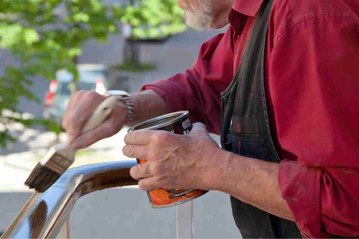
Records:
M103 121L102 124L92 130L80 134L73 140L71 145L73 145L73 147L76 149L83 149L89 147L101 139L109 138L115 135L118 131L121 130L125 122L125 117L126 116L124 116L122 111L117 109L117 106L115 106L115 109L112 110L108 118Z

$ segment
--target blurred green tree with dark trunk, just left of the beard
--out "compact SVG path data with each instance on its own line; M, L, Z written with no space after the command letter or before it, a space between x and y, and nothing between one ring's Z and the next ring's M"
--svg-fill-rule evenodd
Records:
M119 69L145 69L146 64L139 62L139 44L163 42L169 35L186 30L177 0L130 0L121 21L127 39L123 48L125 62Z

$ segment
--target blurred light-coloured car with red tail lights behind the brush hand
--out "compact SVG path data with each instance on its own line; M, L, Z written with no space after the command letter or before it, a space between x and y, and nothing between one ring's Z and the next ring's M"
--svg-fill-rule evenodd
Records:
M79 79L77 90L95 90L103 94L108 90L128 91L127 77L121 77L118 71L104 64L77 64ZM62 115L69 102L71 90L69 88L73 74L60 70L56 79L50 82L49 91L45 95L45 109L43 117L55 120L61 124Z

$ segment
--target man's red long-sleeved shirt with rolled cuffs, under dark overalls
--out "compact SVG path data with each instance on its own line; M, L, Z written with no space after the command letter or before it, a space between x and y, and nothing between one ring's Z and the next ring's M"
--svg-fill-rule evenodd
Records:
M237 0L227 32L206 41L193 68L146 85L220 133L230 84L262 0ZM265 56L281 193L304 236L359 237L359 3L275 0Z

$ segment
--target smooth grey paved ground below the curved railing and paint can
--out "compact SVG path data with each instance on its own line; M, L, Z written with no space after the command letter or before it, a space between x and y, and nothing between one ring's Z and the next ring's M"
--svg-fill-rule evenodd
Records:
M0 204L6 205L1 207L0 230L30 196L29 192L0 192ZM71 238L176 238L176 207L152 209L145 192L111 188L79 199L70 223ZM194 200L194 238L241 238L228 195L213 191Z

